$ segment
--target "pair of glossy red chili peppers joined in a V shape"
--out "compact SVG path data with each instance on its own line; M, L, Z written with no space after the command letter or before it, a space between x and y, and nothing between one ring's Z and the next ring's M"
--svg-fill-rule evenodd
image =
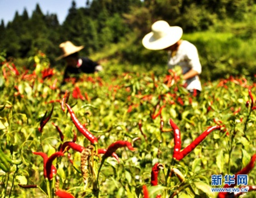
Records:
M203 141L204 138L207 137L210 132L212 132L215 129L221 128L221 126L210 127L209 129L205 130L202 134L200 134L200 136L197 137L190 145L188 145L185 149L183 149L183 151L180 151L180 149L181 149L180 130L177 127L177 125L174 123L174 121L172 121L170 119L169 122L170 122L172 129L174 129L174 155L173 155L173 157L177 161L180 161L186 155L191 153L191 151L193 149L195 149L196 146L199 145L201 143L201 141Z

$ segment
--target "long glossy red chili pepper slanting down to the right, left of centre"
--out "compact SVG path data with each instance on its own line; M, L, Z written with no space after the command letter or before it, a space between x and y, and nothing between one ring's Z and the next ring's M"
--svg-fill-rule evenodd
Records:
M72 108L67 103L65 105L68 107L68 112L71 115L71 119L75 124L76 128L79 130L79 132L82 133L92 144L98 144L98 139L95 136L93 136L93 134L90 133L89 130L87 130L85 127L81 125Z

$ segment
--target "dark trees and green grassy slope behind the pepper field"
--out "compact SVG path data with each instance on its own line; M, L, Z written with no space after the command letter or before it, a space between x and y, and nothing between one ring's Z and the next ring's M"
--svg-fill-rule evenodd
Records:
M41 50L52 67L63 69L64 63L55 58L61 53L59 44L71 40L85 45L82 56L106 66L109 61L165 69L167 57L141 44L151 24L162 19L182 27L183 38L199 49L205 81L225 74L253 75L255 16L253 0L92 0L80 9L73 1L64 23L59 24L56 14L44 15L37 5L31 16L25 9L22 14L16 12L13 22L1 22L0 51L6 50L18 65L31 68L27 58Z

